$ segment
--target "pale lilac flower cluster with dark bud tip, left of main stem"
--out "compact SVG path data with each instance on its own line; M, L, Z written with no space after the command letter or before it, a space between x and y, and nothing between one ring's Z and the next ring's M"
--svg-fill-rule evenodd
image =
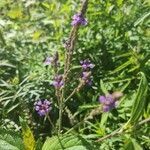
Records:
M52 57L47 57L44 61L44 64L47 65L52 65L54 67L57 67L59 65L59 56L58 52L55 52L55 54Z

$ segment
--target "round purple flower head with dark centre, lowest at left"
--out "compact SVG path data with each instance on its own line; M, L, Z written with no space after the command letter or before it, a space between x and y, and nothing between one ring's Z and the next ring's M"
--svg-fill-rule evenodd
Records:
M50 105L51 102L49 102L47 99L39 100L34 103L35 110L40 116L45 116L48 114L48 112L52 109Z

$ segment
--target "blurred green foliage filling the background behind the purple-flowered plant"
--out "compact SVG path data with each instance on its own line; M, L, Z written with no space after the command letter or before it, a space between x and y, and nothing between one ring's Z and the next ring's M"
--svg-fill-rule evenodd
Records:
M33 131L38 141L36 149L41 149L46 137L53 135L48 120L37 115L33 104L42 98L51 100L50 117L57 124L58 108L54 88L50 85L53 71L51 67L45 67L43 61L58 51L60 72L63 70L64 41L72 28L71 17L80 6L80 0L0 1L0 125L3 131L0 149L8 150L5 144L9 144L9 150L24 149L21 126L29 135ZM63 128L78 134L61 138L64 141L74 139L70 147L79 143L75 149L147 150L150 147L150 126L147 122L140 128L135 126L138 121L150 117L150 1L89 0L86 18L88 25L79 30L70 74L72 80L67 84L67 92L72 91L78 82L74 76L80 73L80 60L86 58L95 64L93 84L68 101L70 116L63 114ZM98 97L105 94L105 89L124 93L118 107L73 129L73 125L100 105ZM19 121L19 116L31 129L23 120ZM73 123L70 121L72 116ZM125 134L95 142L128 121L136 125ZM47 143L51 145L55 141L58 146L51 147L51 150L61 149L55 138L53 136ZM49 149L44 146L44 150Z

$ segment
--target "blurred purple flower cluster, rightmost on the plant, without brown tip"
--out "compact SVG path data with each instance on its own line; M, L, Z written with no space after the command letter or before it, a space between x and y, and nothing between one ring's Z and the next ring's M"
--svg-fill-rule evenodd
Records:
M108 112L116 106L116 100L111 94L100 96L99 102L102 104L102 109L104 112Z

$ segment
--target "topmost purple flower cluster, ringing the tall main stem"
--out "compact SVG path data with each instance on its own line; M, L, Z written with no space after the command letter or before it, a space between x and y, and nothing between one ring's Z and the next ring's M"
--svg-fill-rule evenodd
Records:
M72 17L73 21L71 23L72 26L76 25L87 25L87 19L83 17L82 14L78 13Z

